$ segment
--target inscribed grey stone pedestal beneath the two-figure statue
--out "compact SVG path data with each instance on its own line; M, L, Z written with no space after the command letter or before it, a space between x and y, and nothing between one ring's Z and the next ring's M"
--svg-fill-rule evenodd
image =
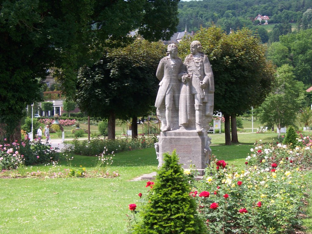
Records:
M196 130L173 130L161 132L159 138L159 166L163 163L163 154L171 154L174 149L180 158L183 168L195 165L199 171L206 167L208 155L210 154L210 138L207 132L196 132Z

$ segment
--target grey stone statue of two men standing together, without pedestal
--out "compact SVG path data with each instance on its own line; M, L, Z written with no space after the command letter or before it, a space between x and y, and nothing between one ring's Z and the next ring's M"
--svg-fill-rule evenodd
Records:
M214 80L210 62L199 41L191 43L184 63L178 47L168 45L167 56L159 62L156 76L159 90L155 102L163 132L170 130L207 131L213 114Z

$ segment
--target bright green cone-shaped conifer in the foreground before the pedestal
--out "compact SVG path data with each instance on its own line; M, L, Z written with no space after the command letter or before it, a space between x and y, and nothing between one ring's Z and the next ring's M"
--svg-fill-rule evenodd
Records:
M164 154L149 202L140 212L142 221L134 226L134 234L203 234L203 220L196 202L189 195L190 186L175 150Z

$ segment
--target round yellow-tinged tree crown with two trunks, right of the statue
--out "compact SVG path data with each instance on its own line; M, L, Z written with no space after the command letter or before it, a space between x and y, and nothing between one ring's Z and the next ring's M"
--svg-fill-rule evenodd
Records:
M265 48L248 29L231 34L220 28L202 28L193 38L179 43L181 57L189 53L191 40L201 42L208 56L215 81L214 110L225 117L226 144L231 144L230 116L232 118L232 142L238 142L236 115L260 105L271 90L274 69L264 56Z

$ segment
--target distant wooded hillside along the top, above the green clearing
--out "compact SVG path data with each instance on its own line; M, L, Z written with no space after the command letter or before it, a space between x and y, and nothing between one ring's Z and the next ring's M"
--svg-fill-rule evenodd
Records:
M226 32L247 26L253 27L258 14L270 17L270 23L295 23L297 27L308 28L311 22L312 0L202 0L180 2L179 25L181 32L197 31L200 26L209 27L212 22ZM256 22L258 23L258 22Z

